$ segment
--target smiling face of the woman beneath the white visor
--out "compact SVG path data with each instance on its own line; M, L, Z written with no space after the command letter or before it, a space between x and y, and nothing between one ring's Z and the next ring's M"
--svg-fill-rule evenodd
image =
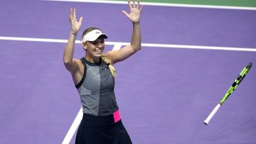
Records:
M83 48L86 50L86 60L89 60L90 62L98 62L103 55L105 40L100 36L95 41L85 42Z

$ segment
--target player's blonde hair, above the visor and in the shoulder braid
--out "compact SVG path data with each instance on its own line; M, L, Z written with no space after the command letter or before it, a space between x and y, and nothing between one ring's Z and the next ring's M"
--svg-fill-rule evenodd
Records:
M100 30L100 29L99 28L86 28L85 31L83 31L83 33L82 33L82 37L93 30ZM102 55L102 57L100 57L100 59L102 60L102 62L105 62L108 65L110 72L112 74L112 77L117 77L117 71L114 69L114 66L111 64L110 59L106 55Z

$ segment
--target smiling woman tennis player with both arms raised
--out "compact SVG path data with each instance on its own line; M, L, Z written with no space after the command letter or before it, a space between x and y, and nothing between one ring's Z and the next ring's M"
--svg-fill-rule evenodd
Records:
M85 57L73 58L75 38L82 25L82 17L77 21L75 8L70 9L71 31L65 47L63 62L71 73L75 87L82 101L83 117L78 128L75 143L128 144L132 143L124 128L114 95L113 65L125 60L141 49L140 12L142 7L128 0L130 12L122 11L133 24L130 45L119 50L104 53L107 34L99 28L87 28L82 33L82 48Z

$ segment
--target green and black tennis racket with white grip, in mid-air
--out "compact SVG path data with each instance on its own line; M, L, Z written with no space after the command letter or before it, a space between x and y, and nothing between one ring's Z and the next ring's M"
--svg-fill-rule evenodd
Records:
M232 84L232 86L228 89L228 92L226 92L225 96L223 96L223 99L221 99L220 103L217 104L217 106L215 106L215 108L213 109L213 111L209 114L209 116L206 118L205 121L203 121L203 123L205 123L206 125L208 125L208 123L210 122L210 120L213 118L213 116L215 115L215 113L218 111L218 109L220 109L220 106L222 106L225 102L225 100L228 99L228 96L230 96L230 94L232 94L235 89L238 87L238 85L242 82L242 79L245 78L245 75L249 72L250 68L252 67L252 62L250 62L243 70L242 72L240 72L240 74L238 75L238 78L235 79L235 82Z

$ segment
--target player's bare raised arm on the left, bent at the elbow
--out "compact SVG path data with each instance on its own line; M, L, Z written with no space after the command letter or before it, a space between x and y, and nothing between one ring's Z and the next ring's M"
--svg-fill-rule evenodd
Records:
M71 31L68 38L68 43L64 50L63 62L66 69L71 73L74 73L76 70L78 70L78 60L73 59L75 38L82 25L82 17L80 17L79 21L77 21L75 8L70 8L69 20L71 25Z

